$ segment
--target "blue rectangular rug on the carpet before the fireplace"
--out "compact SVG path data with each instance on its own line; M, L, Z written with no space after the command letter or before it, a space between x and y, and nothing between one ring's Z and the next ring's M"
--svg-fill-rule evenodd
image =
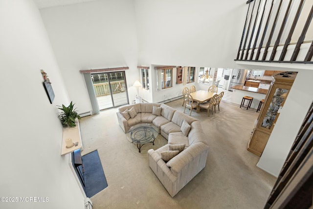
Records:
M87 197L92 197L108 186L104 175L98 150L82 156L85 167L85 192Z

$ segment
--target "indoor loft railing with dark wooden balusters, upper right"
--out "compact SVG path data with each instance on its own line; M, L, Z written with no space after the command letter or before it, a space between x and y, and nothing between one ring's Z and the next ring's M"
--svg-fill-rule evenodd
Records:
M313 0L248 0L238 61L313 64Z

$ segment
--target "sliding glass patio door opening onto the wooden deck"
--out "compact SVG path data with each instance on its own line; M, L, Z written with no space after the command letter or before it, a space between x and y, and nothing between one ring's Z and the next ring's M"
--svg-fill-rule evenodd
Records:
M99 110L129 104L125 71L91 74Z

